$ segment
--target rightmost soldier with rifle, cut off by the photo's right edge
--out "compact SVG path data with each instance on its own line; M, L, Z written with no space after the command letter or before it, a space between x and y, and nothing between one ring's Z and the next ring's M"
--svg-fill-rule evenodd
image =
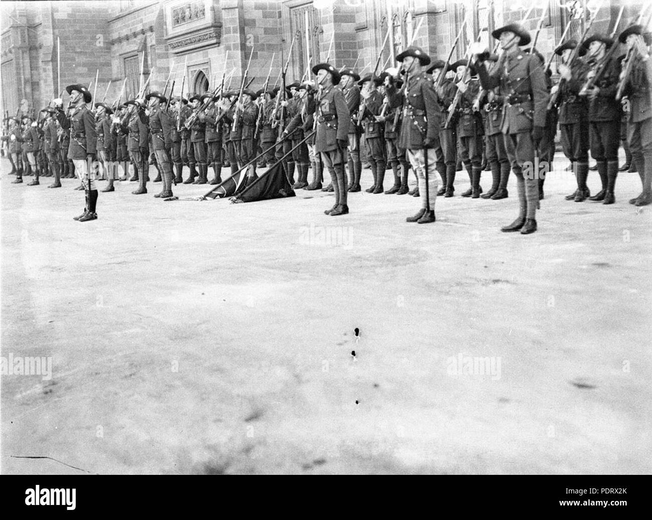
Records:
M632 25L618 37L630 48L629 59L635 60L631 74L621 78L629 99L627 141L642 184L641 194L629 201L635 206L652 203L652 60L648 49L651 38L643 32L642 25Z

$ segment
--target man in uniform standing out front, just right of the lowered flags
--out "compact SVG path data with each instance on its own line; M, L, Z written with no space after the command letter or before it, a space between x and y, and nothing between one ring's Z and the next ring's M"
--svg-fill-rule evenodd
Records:
M331 174L331 182L335 193L335 204L325 214L336 216L349 212L347 201L346 170L344 156L348 144L349 112L344 94L336 85L340 83L340 73L329 63L319 63L312 67L317 74L319 96L316 100L317 134L315 137L315 153L321 155L321 163Z

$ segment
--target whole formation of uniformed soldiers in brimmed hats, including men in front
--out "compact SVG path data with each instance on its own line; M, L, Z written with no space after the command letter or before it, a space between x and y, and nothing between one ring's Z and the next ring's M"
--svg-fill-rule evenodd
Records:
M378 76L370 74L361 79L353 70L338 70L322 63L313 68L316 82L297 82L286 89L223 91L189 100L168 100L162 93L151 92L115 109L98 103L95 113L86 108L91 101L89 91L83 85L70 85L70 113L63 111L61 100L55 100L52 107L44 109L47 116L43 124L28 118L23 121L26 124L22 132L17 130L21 121L12 118L7 139L18 174L14 182L20 182L22 173L21 154L17 152L20 143L27 159L25 166L37 169L35 151L40 135L44 136L42 149L55 177L51 187L60 186L61 175L74 175L75 167L82 168L78 177L88 181L88 186L83 184L87 207L79 218L84 221L96 218L95 205L91 210L89 203L91 199L96 201L96 193L88 194L95 183L84 174L83 164L72 158L76 155L81 159L83 153L66 151L72 148L70 143L77 142L87 158L96 156L101 162L123 165L130 161L134 169L131 180L140 182L134 194L147 193L149 157L153 152L163 182L162 192L156 197L171 197L172 184L178 182L219 184L227 161L231 175L246 170L246 185L256 179L257 163L269 165L282 158L293 188L333 191L336 204L327 214L346 214L347 193L361 190L364 134L373 177L367 192L406 194L408 171L413 168L417 177L413 192L421 197L422 210L409 221L435 221L434 195L453 196L456 164L460 161L471 185L463 196L506 198L509 175L515 174L519 216L503 231L527 234L537 229L535 210L543 197L544 175L538 171L524 175L524 166L538 163L552 171L557 123L563 151L578 184L567 199L610 204L615 201L624 117L625 142L643 187L630 202L649 204L652 114L649 35L645 28L632 25L617 40L593 35L579 43L563 42L555 50L561 59L561 81L554 86L550 70L544 70L542 55L522 49L530 36L520 25L506 25L493 35L500 42L500 57L476 49L471 50L470 59L448 64L432 61L421 49L410 47L397 56L402 63L400 70L389 69ZM625 44L627 54L608 52L618 44ZM621 66L623 59L625 66ZM599 81L592 83L596 74ZM616 91L625 94L624 105L615 96ZM556 96L554 104L550 102L551 94ZM627 107L624 116L623 106ZM81 124L72 124L75 114ZM71 129L69 135L67 128ZM601 190L593 196L587 187L589 149L597 162L601 184ZM492 173L492 187L484 194L480 186L483 154ZM184 164L189 168L185 180ZM313 178L308 183L311 164ZM394 182L385 191L388 164ZM209 166L213 169L211 181ZM436 190L437 175L432 169L428 171L429 166L441 176L440 190ZM322 187L324 169L331 173L332 182ZM107 192L114 190L113 177L108 177L109 184L103 190ZM126 169L119 178L126 179ZM31 184L35 183L38 177Z

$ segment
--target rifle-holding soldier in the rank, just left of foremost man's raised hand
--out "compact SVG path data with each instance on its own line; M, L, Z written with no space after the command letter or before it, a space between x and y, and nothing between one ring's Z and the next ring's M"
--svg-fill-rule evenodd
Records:
M451 70L456 76L453 80L455 87L460 91L457 106L449 106L449 113L455 110L456 133L460 143L460 158L469 175L471 187L462 194L462 197L477 199L482 193L480 176L482 173L482 118L479 111L473 110L473 103L480 91L480 83L473 79L476 71L473 67L469 71L472 75L466 82L462 81L466 74L467 60L461 59L452 63ZM452 124L452 121L451 121Z

